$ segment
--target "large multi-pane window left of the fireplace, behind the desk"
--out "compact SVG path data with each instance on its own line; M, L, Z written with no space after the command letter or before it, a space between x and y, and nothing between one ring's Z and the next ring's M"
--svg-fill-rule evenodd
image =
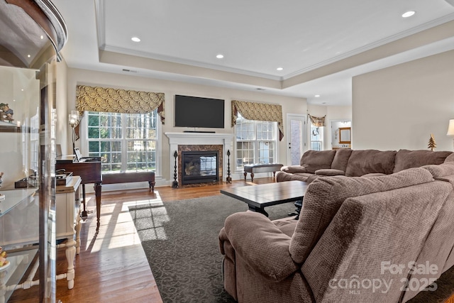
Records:
M156 171L157 110L149 114L88 111L88 156L102 172Z

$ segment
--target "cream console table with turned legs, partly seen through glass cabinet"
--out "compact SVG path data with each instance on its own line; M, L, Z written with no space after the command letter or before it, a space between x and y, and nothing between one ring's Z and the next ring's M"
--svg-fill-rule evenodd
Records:
M78 241L74 241L75 231L80 231L77 221L79 214L78 188L81 183L78 176L72 177L67 185L57 186L55 194L55 239L63 240L56 248L66 248L67 272L56 275L56 280L67 280L68 289L74 287L74 257ZM0 246L8 252L8 267L0 268L0 302L8 301L14 290L27 289L39 285L33 280L38 271L38 262L34 260L38 251L39 199L38 189L12 189L2 191L6 198L0 203ZM74 228L75 225L79 227ZM79 238L76 233L76 238ZM31 265L33 264L33 267ZM18 284L24 273L30 268L31 274L26 282Z

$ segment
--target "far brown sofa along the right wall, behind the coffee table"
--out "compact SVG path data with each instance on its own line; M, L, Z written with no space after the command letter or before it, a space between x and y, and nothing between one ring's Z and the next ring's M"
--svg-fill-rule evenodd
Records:
M451 154L431 150L308 150L302 155L300 165L282 167L276 180L312 182L321 176L389 175L411 167L441 164ZM448 161L454 161L454 155Z

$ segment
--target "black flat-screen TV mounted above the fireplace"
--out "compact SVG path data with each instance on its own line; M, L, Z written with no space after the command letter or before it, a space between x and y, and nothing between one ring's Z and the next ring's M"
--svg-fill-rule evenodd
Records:
M224 100L175 95L175 126L224 128Z

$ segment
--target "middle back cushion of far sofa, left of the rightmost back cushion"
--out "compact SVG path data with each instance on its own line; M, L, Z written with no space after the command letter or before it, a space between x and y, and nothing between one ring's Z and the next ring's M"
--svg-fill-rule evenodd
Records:
M395 150L352 150L345 175L360 177L371 172L392 174Z

